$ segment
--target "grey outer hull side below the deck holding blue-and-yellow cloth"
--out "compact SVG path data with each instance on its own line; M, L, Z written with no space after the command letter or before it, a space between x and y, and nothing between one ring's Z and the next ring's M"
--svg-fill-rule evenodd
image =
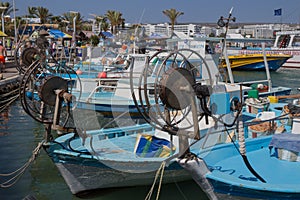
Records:
M122 164L127 169L132 168L133 164L145 169L145 163L141 163L141 165L132 162ZM93 165L87 165L86 161L82 161L82 164L56 162L55 165L73 194L105 188L152 185L156 174L156 171L144 173L119 171L101 164L100 161L95 161ZM191 180L191 176L184 169L178 168L179 166L171 165L165 169L163 184Z

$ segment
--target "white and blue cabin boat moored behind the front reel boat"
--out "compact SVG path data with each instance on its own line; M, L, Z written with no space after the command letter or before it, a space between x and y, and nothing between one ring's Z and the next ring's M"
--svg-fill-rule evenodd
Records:
M214 49L215 43L219 43L220 38L193 38L189 42L186 42L186 40L187 39L181 38L168 39L168 48L171 49L172 47L177 46L181 49L188 48L199 52L206 59L206 62L210 65L212 79L214 81L218 81L217 79L219 78L222 79L223 77L221 76L224 74L220 73L220 71L222 70L220 70L218 66L220 53L217 53ZM210 47L210 52L205 50L207 46ZM130 93L128 72L130 68L133 68L135 69L136 77L139 76L139 74L142 73L142 66L144 66L144 64L146 63L146 58L148 55L132 54L131 56L132 58L134 58L134 60L130 61L130 66L126 70L122 70L119 72L108 71L105 72L105 76L101 77L101 75L103 75L101 74L100 76L98 76L98 78L79 75L79 77L81 77L83 93L81 99L78 102L78 108L95 110L97 112L103 113L107 117L113 117L112 113L114 113L115 116L120 116L124 113L130 113L131 116L139 117L138 110L135 107L133 100L128 96L128 94ZM154 69L153 72L155 72L160 66L160 63L157 62L157 60L163 60L163 58L166 56L167 53L165 51L156 51L155 53L152 53L152 55L149 57L149 62L155 63L156 69ZM190 59L193 60L193 58ZM264 63L263 54L260 59L262 60L262 67L266 71L267 69L265 67L266 65ZM194 59L193 62L197 61ZM231 66L231 64L229 65ZM228 65L226 65L226 69L227 66ZM203 70L201 74L202 76L207 76L206 73L207 72ZM235 83L231 70L227 69L227 73L230 77L230 82L232 84ZM154 73L152 75L155 76ZM201 79L202 77L198 78ZM257 92L257 96L261 97L288 95L291 92L291 88L288 87L272 86L269 70L266 71L265 80L244 80L244 82L241 84L243 84L245 87L247 86L247 90L249 90L250 93ZM252 85L256 85L259 87L252 88ZM76 90L79 91L80 88L76 88ZM73 94L76 93L73 92ZM245 98L247 97L248 91L245 92ZM124 116L128 115L126 114Z

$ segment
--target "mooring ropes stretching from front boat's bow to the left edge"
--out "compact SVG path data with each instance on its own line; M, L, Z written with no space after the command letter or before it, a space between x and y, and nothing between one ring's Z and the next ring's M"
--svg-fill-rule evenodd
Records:
M14 172L8 174L0 174L0 177L11 177L8 180L5 180L3 183L0 184L1 188L9 188L13 186L17 181L21 178L21 176L25 173L26 169L30 166L30 164L37 158L44 141L38 143L37 147L32 151L31 157L28 161L19 169L15 170Z

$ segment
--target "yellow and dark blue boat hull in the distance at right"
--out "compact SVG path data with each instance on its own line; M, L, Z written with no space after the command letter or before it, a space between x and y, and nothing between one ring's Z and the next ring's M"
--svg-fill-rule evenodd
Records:
M267 54L267 62L270 71L278 70L291 55L283 54ZM265 63L263 54L239 54L228 56L230 67L232 70L255 70L265 71ZM226 68L225 59L222 61L223 67Z

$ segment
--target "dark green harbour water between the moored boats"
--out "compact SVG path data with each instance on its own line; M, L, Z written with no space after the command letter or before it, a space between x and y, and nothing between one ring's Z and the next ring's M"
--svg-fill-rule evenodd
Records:
M279 70L272 72L273 85L293 88L297 93L300 87L300 71ZM237 80L247 80L256 77L265 79L263 72L234 72ZM32 155L33 149L43 139L43 125L31 119L22 109L19 101L12 104L0 115L0 173L10 173L21 167ZM0 183L7 180L0 177ZM151 186L109 189L95 191L81 198L71 194L60 173L43 149L37 159L25 171L19 181L9 188L0 188L0 199L23 199L34 197L39 200L52 199L145 199ZM157 187L154 189L157 191ZM152 195L156 197L156 192ZM153 199L152 198L152 199ZM163 185L159 199L173 200L204 200L205 194L193 181ZM246 199L240 197L222 196L221 199Z

